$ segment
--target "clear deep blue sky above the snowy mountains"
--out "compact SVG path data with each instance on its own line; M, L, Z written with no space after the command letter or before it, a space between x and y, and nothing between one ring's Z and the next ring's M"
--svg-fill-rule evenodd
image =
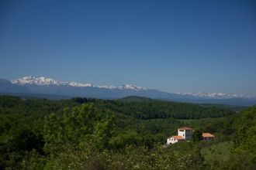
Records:
M0 1L0 77L256 95L256 1Z

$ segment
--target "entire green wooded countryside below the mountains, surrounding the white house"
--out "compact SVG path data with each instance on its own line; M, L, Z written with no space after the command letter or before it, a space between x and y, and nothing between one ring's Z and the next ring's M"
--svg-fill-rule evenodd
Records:
M180 126L216 139L165 145ZM255 134L256 107L0 97L0 169L255 169Z

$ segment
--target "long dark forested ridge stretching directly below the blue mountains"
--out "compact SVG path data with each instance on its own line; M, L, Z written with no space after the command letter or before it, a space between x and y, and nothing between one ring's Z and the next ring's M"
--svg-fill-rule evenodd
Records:
M234 114L227 108L200 106L152 100L144 97L126 97L122 100L95 100L73 98L71 100L22 99L19 97L0 97L0 107L12 106L12 110L31 113L33 111L50 114L64 107L74 107L81 103L93 103L97 110L112 110L116 114L125 114L139 119L157 119L173 117L175 119L198 119L206 117L224 117ZM10 108L9 108L10 109Z

